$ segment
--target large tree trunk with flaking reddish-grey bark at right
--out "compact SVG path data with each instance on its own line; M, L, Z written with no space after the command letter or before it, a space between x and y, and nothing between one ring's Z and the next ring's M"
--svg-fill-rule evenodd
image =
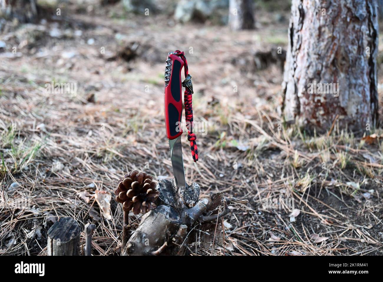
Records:
M378 120L377 0L293 0L282 113L308 132Z

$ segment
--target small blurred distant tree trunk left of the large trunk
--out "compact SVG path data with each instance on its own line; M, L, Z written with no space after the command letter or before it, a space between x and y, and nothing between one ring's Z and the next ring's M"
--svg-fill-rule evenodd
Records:
M253 29L254 22L252 0L230 0L229 26L231 30Z

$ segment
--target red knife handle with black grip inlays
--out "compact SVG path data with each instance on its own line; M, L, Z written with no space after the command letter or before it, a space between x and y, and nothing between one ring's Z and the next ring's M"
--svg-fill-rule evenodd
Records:
M165 84L165 124L166 136L173 140L182 134L182 84L181 70L184 65L180 57L171 54L169 58L172 62L172 71L170 72L170 81Z

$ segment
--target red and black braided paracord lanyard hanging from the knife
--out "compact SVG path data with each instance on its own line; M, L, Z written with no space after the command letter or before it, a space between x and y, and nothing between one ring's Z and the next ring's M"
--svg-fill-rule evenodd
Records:
M179 56L182 61L185 63L183 67L185 71L185 78L187 78L189 74L188 62L185 58L185 53L179 50L175 51L176 55ZM190 142L190 151L191 156L193 157L194 162L198 161L198 149L197 143L195 140L197 139L196 135L193 133L193 106L192 106L192 90L189 87L185 87L184 101L185 101L185 120L186 120L186 128L188 130L188 141Z

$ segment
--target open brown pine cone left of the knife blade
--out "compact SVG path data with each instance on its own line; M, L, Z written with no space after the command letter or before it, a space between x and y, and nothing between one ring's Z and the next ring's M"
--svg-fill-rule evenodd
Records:
M123 204L124 211L133 211L134 214L146 213L154 209L154 204L160 192L155 189L153 177L146 173L134 170L118 180L115 190L116 201Z

